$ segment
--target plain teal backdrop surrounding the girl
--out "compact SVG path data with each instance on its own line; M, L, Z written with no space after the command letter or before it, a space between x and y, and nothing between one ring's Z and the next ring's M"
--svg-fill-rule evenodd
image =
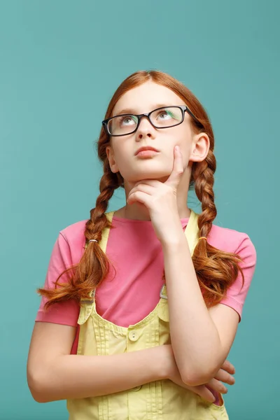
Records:
M258 253L225 403L231 420L279 417L279 12L278 1L0 1L1 419L67 419L64 401L39 404L27 386L35 290L59 230L94 207L94 142L139 69L172 74L209 112L215 224L248 233ZM119 191L109 210L123 205Z

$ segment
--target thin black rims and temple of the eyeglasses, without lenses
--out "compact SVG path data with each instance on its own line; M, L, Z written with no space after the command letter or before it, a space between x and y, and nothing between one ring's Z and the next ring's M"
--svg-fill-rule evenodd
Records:
M168 126L165 126L165 127L156 127L153 123L152 123L152 121L151 121L151 118L150 118L150 116L151 116L151 113L153 113L153 112L155 112L155 111L158 111L159 109L166 109L166 108L180 108L181 109L181 112L182 112L182 120L180 121L180 123L177 123L177 124L175 124L175 125L168 125ZM183 120L184 120L184 118L185 118L185 112L187 111L187 113L198 123L198 124L200 124L202 127L203 127L203 125L202 125L202 123L200 123L200 120L197 120L197 118L195 117L195 115L192 113L192 111L190 111L190 109L188 108L188 106L186 106L186 105L170 105L170 106L160 106L160 108L157 108L157 109L153 109L153 111L151 111L151 112L148 112L148 113L143 113L143 114L133 114L133 113L125 113L125 114L120 114L119 116L114 116L114 117L111 117L111 118L107 118L106 120L103 120L102 121L102 125L103 125L103 127L104 127L104 130L105 130L105 132L109 135L109 136L113 136L113 137L122 137L122 136L127 136L127 135L129 135L129 134L133 134L134 132L136 132L137 131L137 129L138 129L138 127L139 127L139 124L140 124L140 121L141 121L141 118L143 118L144 116L145 117L147 117L148 118L148 120L150 121L150 123L151 123L151 125L153 125L153 127L155 127L156 129L162 129L162 128L170 128L170 127L176 127L176 125L180 125L181 123L183 123ZM113 118L118 118L118 117L123 117L123 116L134 116L134 117L137 117L137 120L138 120L138 123L137 123L137 126L136 126L136 128L132 131L132 132L129 132L129 133L125 133L125 134L111 134L111 132L109 132L109 129L108 129L108 123L109 123L109 121L110 120L113 120Z

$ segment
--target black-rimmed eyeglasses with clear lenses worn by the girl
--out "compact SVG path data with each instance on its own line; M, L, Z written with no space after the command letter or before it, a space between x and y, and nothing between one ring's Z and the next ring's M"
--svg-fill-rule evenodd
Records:
M151 125L155 128L169 128L183 123L185 111L187 111L188 114L202 126L202 123L197 120L186 105L165 106L139 115L128 113L121 114L120 116L107 118L102 121L102 125L109 136L126 136L127 134L132 134L137 131L140 120L144 116L148 118Z

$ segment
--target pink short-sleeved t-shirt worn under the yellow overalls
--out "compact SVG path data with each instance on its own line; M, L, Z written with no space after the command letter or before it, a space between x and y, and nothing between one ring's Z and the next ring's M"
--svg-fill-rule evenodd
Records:
M182 218L185 230L189 218ZM160 300L162 273L164 268L162 245L155 235L151 221L137 221L113 216L113 226L109 232L106 255L116 268L110 269L109 275L97 288L95 297L97 313L116 325L128 327L145 318ZM45 277L45 288L53 288L59 274L66 268L79 262L85 247L85 221L69 225L59 232L52 249L48 272ZM256 253L251 239L246 233L237 232L218 225L212 225L208 241L218 249L238 253L244 262L245 283L241 289L241 275L228 289L227 297L221 301L239 314L242 308L253 273L255 271ZM59 281L66 281L62 276ZM76 338L71 349L76 354L78 345L78 302L67 302L52 305L48 311L43 310L45 297L42 297L36 321L59 323L77 327Z

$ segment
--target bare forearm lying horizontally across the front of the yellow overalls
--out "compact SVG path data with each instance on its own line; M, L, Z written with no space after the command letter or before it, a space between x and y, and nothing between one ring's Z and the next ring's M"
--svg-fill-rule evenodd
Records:
M38 402L125 391L165 379L164 353L160 350L157 346L112 356L61 355L42 367L29 388Z

